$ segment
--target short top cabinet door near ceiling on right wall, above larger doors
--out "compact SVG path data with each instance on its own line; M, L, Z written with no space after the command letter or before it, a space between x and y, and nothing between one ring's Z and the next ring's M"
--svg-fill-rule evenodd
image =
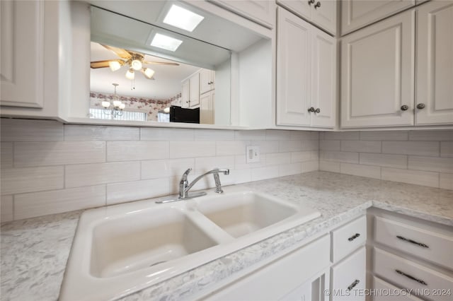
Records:
M343 0L341 1L341 35L414 5L415 0Z

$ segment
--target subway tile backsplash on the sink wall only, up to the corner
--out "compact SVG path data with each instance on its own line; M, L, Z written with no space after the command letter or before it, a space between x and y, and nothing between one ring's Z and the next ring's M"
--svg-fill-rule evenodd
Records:
M246 163L260 146L260 163ZM178 192L224 167L222 184L318 170L319 133L61 124L1 119L1 221L105 206ZM207 177L194 189L214 187Z

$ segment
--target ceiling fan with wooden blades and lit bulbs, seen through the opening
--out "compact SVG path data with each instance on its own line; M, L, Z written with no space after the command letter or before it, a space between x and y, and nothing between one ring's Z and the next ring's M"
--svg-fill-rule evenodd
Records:
M145 68L144 65L159 64L168 66L179 66L177 63L168 63L165 61L145 61L144 54L133 52L130 50L117 48L108 45L102 45L105 49L114 52L121 59L105 59L103 61L91 61L91 68L110 67L110 70L117 71L121 66L127 66L129 69L126 72L126 78L132 80L135 78L135 71L141 71L146 78L154 79L154 70Z

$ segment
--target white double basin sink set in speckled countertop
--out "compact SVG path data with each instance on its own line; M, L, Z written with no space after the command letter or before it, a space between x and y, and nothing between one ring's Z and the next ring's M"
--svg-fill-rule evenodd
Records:
M79 220L60 300L122 297L319 216L234 187L173 203L89 210Z

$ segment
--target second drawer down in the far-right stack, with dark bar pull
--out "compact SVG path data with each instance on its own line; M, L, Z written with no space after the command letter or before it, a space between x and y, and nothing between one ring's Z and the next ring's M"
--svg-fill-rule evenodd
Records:
M449 290L451 293L453 278L378 248L374 248L374 273L401 288L418 292L423 299L452 300L452 295L445 293L439 296L432 292Z

